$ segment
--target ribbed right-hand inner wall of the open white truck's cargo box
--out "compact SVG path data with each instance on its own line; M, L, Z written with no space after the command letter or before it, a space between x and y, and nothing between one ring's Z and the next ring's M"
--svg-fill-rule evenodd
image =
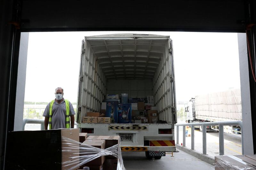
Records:
M154 87L154 101L158 108L159 119L172 122L172 98L171 98L171 57L169 53L170 41L166 40L164 46L164 52L161 56L158 69L156 70L155 77L153 79Z

